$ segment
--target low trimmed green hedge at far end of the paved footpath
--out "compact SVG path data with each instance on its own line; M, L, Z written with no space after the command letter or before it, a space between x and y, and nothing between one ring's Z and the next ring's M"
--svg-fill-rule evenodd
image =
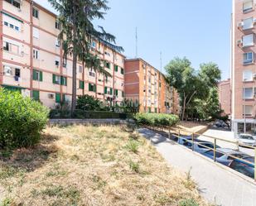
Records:
M179 122L179 117L164 113L137 113L135 120L139 125L171 127Z

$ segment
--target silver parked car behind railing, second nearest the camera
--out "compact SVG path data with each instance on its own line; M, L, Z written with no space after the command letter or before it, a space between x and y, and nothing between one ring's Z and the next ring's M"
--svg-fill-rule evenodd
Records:
M231 162L234 160L234 157L239 157L241 159L249 157L249 155L241 152L241 151L234 151L228 148L218 148L216 151L216 161L223 164L223 165L230 165ZM202 153L202 155L209 157L210 159L214 159L214 151L208 150Z

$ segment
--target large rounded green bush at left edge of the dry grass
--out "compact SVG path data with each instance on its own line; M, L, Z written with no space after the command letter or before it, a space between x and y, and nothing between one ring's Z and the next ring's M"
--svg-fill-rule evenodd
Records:
M0 148L35 145L48 122L49 111L19 92L0 89Z

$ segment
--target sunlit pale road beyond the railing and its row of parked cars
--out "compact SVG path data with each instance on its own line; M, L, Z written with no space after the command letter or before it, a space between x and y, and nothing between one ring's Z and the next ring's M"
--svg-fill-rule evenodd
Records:
M210 137L217 137L220 139L224 139L224 140L228 140L228 141L237 141L234 138L234 132L230 132L227 130L218 130L218 129L209 129L207 130L203 135L206 136L210 136ZM200 136L198 137L200 140L205 140L205 141L211 141L213 142L213 139L209 138L209 137L204 137L204 136ZM237 145L234 143L229 143L229 142L225 142L225 141L218 141L217 140L217 145L224 147L224 148L231 148L234 150L237 150L238 147ZM253 149L249 149L249 148L245 148L242 146L239 146L239 151L243 151L244 153L248 154L249 156L255 156L255 152Z

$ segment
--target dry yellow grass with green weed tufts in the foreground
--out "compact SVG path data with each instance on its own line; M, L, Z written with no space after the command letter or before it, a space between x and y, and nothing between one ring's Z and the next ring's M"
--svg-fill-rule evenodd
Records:
M124 126L49 127L40 145L0 163L5 206L206 205L190 178Z

